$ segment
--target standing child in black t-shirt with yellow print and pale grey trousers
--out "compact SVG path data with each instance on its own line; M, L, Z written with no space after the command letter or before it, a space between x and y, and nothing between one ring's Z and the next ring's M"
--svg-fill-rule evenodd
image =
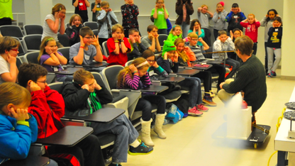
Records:
M279 62L281 62L281 45L282 45L282 18L274 17L274 22L272 27L268 31L269 38L267 40L267 54L268 54L268 75L267 77L274 77L274 72L276 72ZM275 60L273 62L274 59Z

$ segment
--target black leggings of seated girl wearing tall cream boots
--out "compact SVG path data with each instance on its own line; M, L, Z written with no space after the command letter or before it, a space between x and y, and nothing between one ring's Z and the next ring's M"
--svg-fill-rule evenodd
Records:
M138 100L135 111L143 111L143 121L150 121L152 118L152 104L157 105L157 114L165 114L166 100L164 96L145 95Z

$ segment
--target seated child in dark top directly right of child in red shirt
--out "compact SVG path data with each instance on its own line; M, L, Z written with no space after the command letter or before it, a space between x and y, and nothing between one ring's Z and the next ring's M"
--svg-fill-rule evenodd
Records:
M136 57L141 57L143 51L147 50L143 43L141 43L140 35L138 29L129 29L129 43L131 51L127 53L128 61L133 60Z

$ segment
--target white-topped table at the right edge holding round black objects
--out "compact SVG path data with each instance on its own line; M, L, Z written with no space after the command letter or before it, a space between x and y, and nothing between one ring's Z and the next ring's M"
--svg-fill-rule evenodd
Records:
M295 101L295 88L289 101ZM286 111L294 110L286 109ZM279 127L279 131L277 131L276 138L274 138L274 150L278 150L277 166L286 165L285 160L287 155L289 155L289 166L295 165L295 139L288 138L289 130L290 120L283 118ZM292 123L292 131L295 131L295 121Z

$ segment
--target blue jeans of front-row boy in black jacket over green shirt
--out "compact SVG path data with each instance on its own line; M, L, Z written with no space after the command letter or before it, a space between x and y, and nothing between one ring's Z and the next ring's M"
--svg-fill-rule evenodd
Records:
M99 133L113 133L116 135L115 144L113 145L113 162L127 162L127 153L129 144L138 138L138 131L125 116L119 116L110 123L91 123L94 128L94 135Z

